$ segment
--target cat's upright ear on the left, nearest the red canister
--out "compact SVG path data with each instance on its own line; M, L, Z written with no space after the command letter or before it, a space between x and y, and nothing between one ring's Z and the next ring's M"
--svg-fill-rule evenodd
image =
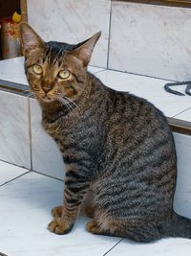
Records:
M23 49L23 55L25 57L28 54L35 50L36 48L45 48L44 41L37 35L33 30L32 27L25 22L21 22L19 25L20 30L20 37L21 37L21 44Z

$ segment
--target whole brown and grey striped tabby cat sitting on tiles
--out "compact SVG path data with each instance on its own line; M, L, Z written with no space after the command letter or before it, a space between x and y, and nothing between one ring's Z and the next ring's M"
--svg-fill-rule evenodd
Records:
M191 221L173 210L177 157L166 118L87 71L100 33L76 45L44 42L26 23L20 34L42 126L66 167L63 205L53 208L49 229L70 232L91 189L91 233L138 242L191 238Z

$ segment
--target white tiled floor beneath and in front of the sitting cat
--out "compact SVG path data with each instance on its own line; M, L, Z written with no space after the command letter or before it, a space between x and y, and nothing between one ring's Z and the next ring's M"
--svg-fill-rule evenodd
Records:
M12 171L14 170L14 173ZM0 163L6 180L26 170ZM87 217L80 214L73 230L57 236L47 229L53 206L62 203L63 182L33 172L0 187L0 252L9 256L180 256L190 255L191 241L165 239L138 244L127 239L97 236L85 230Z

